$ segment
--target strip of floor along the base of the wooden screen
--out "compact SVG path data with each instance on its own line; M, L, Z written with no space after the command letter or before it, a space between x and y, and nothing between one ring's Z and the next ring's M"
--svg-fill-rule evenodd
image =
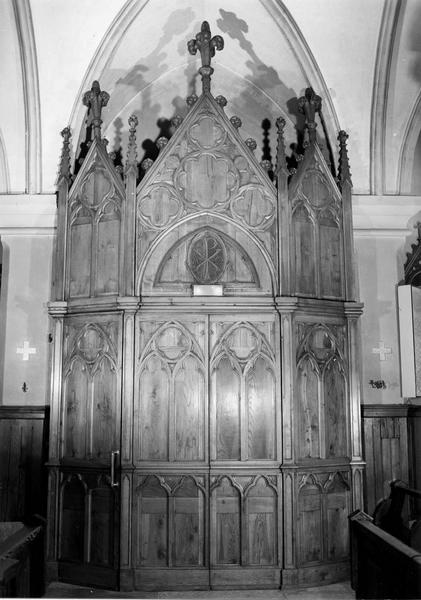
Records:
M111 592L79 587L66 583L51 583L45 598L185 598L195 600L212 598L229 600L253 598L256 600L354 600L355 593L349 582L334 583L320 587L289 590L241 590L241 591L198 591L198 592Z

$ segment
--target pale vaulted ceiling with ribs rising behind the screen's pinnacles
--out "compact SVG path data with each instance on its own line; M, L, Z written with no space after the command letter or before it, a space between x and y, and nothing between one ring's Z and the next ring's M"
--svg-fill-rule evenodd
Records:
M70 125L77 154L94 80L111 96L109 151L124 146L134 113L139 159L153 153L201 92L187 41L203 20L225 40L212 93L257 153L274 158L280 115L297 142L297 98L311 86L333 155L339 129L349 134L356 193L421 193L419 0L2 0L0 193L54 190L60 131Z

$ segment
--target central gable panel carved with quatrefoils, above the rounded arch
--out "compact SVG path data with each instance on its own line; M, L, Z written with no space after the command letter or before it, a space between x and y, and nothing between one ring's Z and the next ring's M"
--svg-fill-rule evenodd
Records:
M240 223L276 264L276 192L220 119L216 106L202 98L183 135L176 133L171 140L171 152L154 181L146 177L142 182L137 200L140 260L165 229L205 211L223 216L234 228Z

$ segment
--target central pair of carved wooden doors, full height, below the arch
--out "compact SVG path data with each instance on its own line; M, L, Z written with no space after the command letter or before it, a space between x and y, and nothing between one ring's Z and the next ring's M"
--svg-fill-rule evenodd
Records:
M272 315L141 317L137 589L279 586L275 339Z

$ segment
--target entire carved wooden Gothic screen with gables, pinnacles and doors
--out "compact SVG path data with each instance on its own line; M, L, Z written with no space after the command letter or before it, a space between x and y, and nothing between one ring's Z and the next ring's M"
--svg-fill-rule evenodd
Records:
M131 117L115 167L97 82L77 173L63 131L51 577L131 590L348 573L363 463L346 134L336 181L307 90L303 159L287 170L279 119L272 180L210 92L210 38L204 22L189 43L203 93L153 164Z

